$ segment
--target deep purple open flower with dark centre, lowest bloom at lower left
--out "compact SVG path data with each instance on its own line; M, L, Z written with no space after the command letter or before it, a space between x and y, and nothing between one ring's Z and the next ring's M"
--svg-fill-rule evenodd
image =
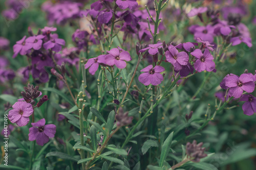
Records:
M30 141L36 140L36 143L42 146L49 141L49 137L54 137L56 126L53 124L45 124L45 118L40 119L37 123L31 123L33 127L29 128Z

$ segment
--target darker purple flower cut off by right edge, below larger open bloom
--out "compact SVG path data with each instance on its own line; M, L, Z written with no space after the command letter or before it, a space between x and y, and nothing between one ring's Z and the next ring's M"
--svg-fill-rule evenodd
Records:
M256 98L251 94L243 94L239 101L245 101L242 106L244 114L251 116L256 112Z

